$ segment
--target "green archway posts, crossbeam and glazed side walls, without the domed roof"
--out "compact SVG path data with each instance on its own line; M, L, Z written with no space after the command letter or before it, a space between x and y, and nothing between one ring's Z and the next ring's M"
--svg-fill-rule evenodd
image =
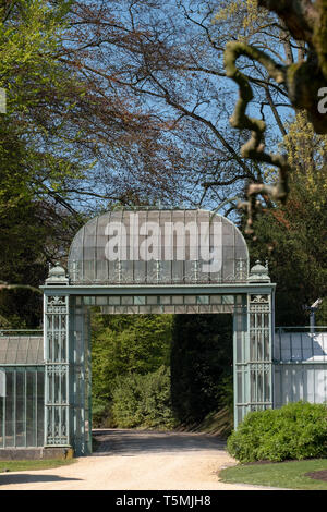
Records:
M137 307L133 313L142 314L140 308L153 305L160 306L159 313L182 306L183 313L232 314L235 427L251 411L298 400L326 402L327 328L315 332L280 328L274 340L275 285L267 281L266 267L256 266L256 276L258 270L261 282L233 289L239 293L228 293L225 285L107 287L106 293L102 287L87 287L78 295L57 268L52 278L59 276L60 282L44 288L45 361L43 339L36 332L0 334L0 371L5 375L5 392L0 390L0 450L72 446L77 455L92 452L93 306L111 307L110 314L121 314L121 307ZM211 306L217 309L208 310Z

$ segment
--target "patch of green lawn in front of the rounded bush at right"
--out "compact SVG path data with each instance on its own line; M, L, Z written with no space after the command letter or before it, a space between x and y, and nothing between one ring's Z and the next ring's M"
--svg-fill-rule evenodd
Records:
M327 490L327 481L304 476L305 473L327 470L327 459L274 462L265 464L240 464L219 473L229 484L251 484L287 489Z

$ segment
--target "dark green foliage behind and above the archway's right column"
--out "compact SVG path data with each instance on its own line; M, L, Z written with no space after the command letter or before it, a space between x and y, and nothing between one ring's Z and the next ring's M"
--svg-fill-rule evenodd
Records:
M276 324L296 326L308 324L303 306L327 293L326 136L315 135L304 113L299 113L284 145L293 167L289 200L257 218L258 240L247 243L254 260L269 256L269 273L277 283ZM327 325L323 307L316 318Z

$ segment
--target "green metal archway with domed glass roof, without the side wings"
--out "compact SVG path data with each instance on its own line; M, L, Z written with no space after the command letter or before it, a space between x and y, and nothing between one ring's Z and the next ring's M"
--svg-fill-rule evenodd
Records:
M232 314L235 426L272 407L275 284L266 267L250 270L246 243L228 219L111 211L78 231L68 267L69 276L53 267L43 287L45 447L92 451L93 305L107 314Z

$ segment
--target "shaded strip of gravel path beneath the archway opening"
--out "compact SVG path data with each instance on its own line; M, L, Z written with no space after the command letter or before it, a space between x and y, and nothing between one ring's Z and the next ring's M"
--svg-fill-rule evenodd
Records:
M104 429L94 430L93 436L96 439L93 456L226 450L225 441L208 434Z

